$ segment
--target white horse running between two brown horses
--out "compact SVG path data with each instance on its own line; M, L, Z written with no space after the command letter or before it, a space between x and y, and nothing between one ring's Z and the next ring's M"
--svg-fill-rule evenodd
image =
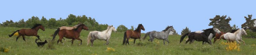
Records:
M87 46L90 43L90 41L91 41L91 46L92 46L93 41L96 40L96 39L105 40L107 42L106 45L108 45L112 30L116 32L116 28L113 25L108 26L108 29L104 30L102 32L99 32L99 31L90 32L88 37L87 37Z

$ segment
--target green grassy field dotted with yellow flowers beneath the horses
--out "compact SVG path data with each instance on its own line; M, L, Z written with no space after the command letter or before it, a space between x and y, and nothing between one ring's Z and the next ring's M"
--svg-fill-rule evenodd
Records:
M0 52L0 55L256 55L256 39L243 38L246 45L240 45L240 51L227 51L226 46L220 45L220 41L217 41L213 45L205 44L195 41L191 45L185 44L185 41L179 43L179 35L170 35L170 43L163 45L163 40L154 39L153 42L148 42L149 37L144 41L136 40L133 44L131 39L130 45L122 45L124 33L112 32L109 45L103 45L106 43L104 40L95 40L94 46L86 46L87 35L89 31L83 30L80 33L80 39L83 40L83 44L79 46L80 41L75 40L73 46L71 39L63 40L64 44L57 43L57 36L53 42L54 49L49 49L48 44L44 47L37 47L35 43L36 37L26 36L26 42L22 40L22 37L16 42L17 36L8 37L13 31L21 28L14 27L0 27L0 47L11 47L8 52ZM39 30L38 35L41 40L47 40L50 42L55 29L45 29L45 31ZM141 35L144 37L144 34ZM226 42L225 40L221 40ZM254 44L254 45L253 45ZM115 49L115 51L107 51L107 47Z

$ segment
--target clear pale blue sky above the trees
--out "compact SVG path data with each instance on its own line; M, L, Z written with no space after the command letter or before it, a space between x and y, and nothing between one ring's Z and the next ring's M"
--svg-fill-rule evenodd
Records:
M172 25L180 34L188 27L191 31L207 28L210 18L215 15L227 15L232 18L230 25L241 28L244 16L256 13L255 0L3 0L0 1L0 22L6 20L28 20L31 16L50 18L67 18L69 14L86 15L95 18L101 24L127 28L142 24L145 31L162 31Z

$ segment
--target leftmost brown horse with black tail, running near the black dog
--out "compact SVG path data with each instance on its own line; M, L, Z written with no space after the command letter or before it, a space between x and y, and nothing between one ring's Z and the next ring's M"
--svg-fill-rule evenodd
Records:
M16 32L19 33L18 37L16 38L16 41L20 38L20 36L22 36L23 40L25 40L25 35L26 36L36 36L40 41L42 41L39 38L39 35L37 35L37 31L39 29L42 29L44 31L44 26L42 24L36 24L34 27L30 28L30 29L20 29L17 30L15 32L13 32L11 35L9 35L9 37L12 37L13 34L15 34Z

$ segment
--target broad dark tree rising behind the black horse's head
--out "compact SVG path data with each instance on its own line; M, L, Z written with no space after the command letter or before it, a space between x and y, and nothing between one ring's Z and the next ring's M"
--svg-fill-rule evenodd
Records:
M218 28L220 31L223 32L229 32L231 30L229 21L231 21L231 18L228 17L226 18L227 15L216 15L214 18L210 19L209 26L213 26L213 28Z

